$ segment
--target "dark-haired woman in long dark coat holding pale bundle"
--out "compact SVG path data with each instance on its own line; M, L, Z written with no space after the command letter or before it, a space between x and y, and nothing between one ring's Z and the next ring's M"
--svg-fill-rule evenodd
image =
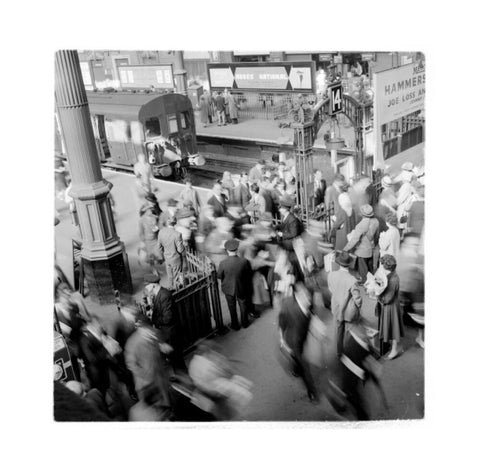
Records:
M385 354L385 347L391 344L391 350L387 354L389 360L400 354L398 343L403 337L403 319L400 311L400 279L395 272L397 261L392 255L380 258L380 263L387 274L387 287L380 294L375 308L378 317L378 331L380 338L380 351Z

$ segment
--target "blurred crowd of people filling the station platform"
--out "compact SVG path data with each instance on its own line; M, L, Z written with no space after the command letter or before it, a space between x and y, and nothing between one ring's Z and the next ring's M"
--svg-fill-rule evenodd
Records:
M72 356L85 366L86 384L98 398L108 404L109 379L124 385L135 404L116 415L131 420L183 418L178 406L184 404L172 401L172 389L177 398L201 399L196 405L208 406L202 412L210 420L232 418L251 398L251 384L218 347L202 345L188 368L183 360L172 293L186 284L186 252L195 251L215 266L231 329L248 327L281 301L279 346L312 402L319 398L312 366L321 364L322 314L331 310L336 359L324 393L339 412L348 404L356 418L367 419L359 383L370 377L381 388L374 358L398 357L405 318L423 317L423 169L405 163L399 175L384 175L378 196L366 176L347 183L335 174L327 185L317 170L319 212L305 226L295 200L294 161L283 153L268 164L260 160L248 174L225 172L204 205L187 179L163 210L148 163L139 163L138 254L151 270L150 312L123 309L119 333L107 336L95 316L82 314L71 290L56 285L56 311L70 328ZM366 298L375 300L376 327L367 323ZM421 329L417 342L423 347ZM109 396L111 404L115 397Z

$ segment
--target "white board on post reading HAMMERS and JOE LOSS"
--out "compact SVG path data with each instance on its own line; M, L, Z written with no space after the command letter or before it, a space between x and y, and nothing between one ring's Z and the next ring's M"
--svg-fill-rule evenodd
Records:
M382 126L425 107L425 66L407 64L374 74L376 168L384 167Z

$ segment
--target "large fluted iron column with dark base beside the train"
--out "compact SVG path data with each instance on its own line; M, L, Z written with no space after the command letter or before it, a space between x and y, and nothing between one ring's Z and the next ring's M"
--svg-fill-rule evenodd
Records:
M112 184L103 179L100 169L76 51L55 54L55 99L72 177L70 195L78 213L89 294L100 303L110 303L114 290L131 293L132 282L108 199Z

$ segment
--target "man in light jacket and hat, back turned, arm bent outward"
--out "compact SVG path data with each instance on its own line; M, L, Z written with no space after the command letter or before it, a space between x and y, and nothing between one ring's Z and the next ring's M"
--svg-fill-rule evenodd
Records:
M351 233L350 240L345 245L344 251L353 251L358 257L358 273L362 282L367 280L367 273L374 273L373 251L378 244L378 220L373 215L372 206L369 204L360 207L362 220Z

